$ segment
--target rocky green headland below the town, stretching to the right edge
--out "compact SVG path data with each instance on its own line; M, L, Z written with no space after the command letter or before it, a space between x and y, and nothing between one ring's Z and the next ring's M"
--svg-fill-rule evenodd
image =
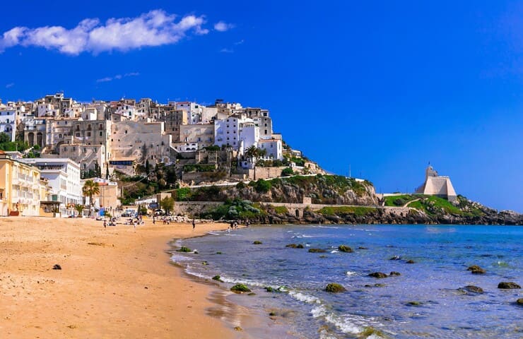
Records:
M297 218L293 211L284 206L271 206L271 203L302 203L304 197L311 198L314 204L350 206L326 206L320 210L307 208L302 218ZM437 196L394 196L391 201L384 201L388 204L386 207L377 207L378 199L370 182L334 175L201 187L190 191L187 196L177 196L177 200L225 201L222 208L206 215L216 219L249 219L250 222L262 224L523 225L523 215L510 211L498 213L464 196L458 196L456 203Z

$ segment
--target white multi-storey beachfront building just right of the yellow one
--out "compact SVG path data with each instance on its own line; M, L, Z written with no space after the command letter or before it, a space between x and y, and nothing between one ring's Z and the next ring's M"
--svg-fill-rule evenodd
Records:
M82 203L80 165L68 158L24 158L21 162L40 169L40 176L47 179L51 200L59 202L61 216L74 215L74 206Z

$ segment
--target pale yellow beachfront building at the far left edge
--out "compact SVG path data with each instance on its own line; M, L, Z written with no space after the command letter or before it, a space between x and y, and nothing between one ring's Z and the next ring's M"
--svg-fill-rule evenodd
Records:
M43 185L37 167L0 150L0 215L39 215Z

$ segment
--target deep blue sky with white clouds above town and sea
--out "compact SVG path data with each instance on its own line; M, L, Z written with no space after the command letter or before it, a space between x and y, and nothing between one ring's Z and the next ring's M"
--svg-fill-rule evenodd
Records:
M430 161L459 194L523 212L521 2L43 2L2 4L4 102L261 106L377 191L413 191Z

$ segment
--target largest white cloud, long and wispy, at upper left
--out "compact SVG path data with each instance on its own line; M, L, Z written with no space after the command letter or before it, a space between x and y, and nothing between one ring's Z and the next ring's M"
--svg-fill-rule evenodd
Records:
M0 35L0 52L16 45L56 49L64 54L127 51L141 47L175 44L189 33L205 35L204 16L184 16L163 10L143 13L136 18L111 18L101 24L97 18L82 20L70 30L61 26L15 27Z

